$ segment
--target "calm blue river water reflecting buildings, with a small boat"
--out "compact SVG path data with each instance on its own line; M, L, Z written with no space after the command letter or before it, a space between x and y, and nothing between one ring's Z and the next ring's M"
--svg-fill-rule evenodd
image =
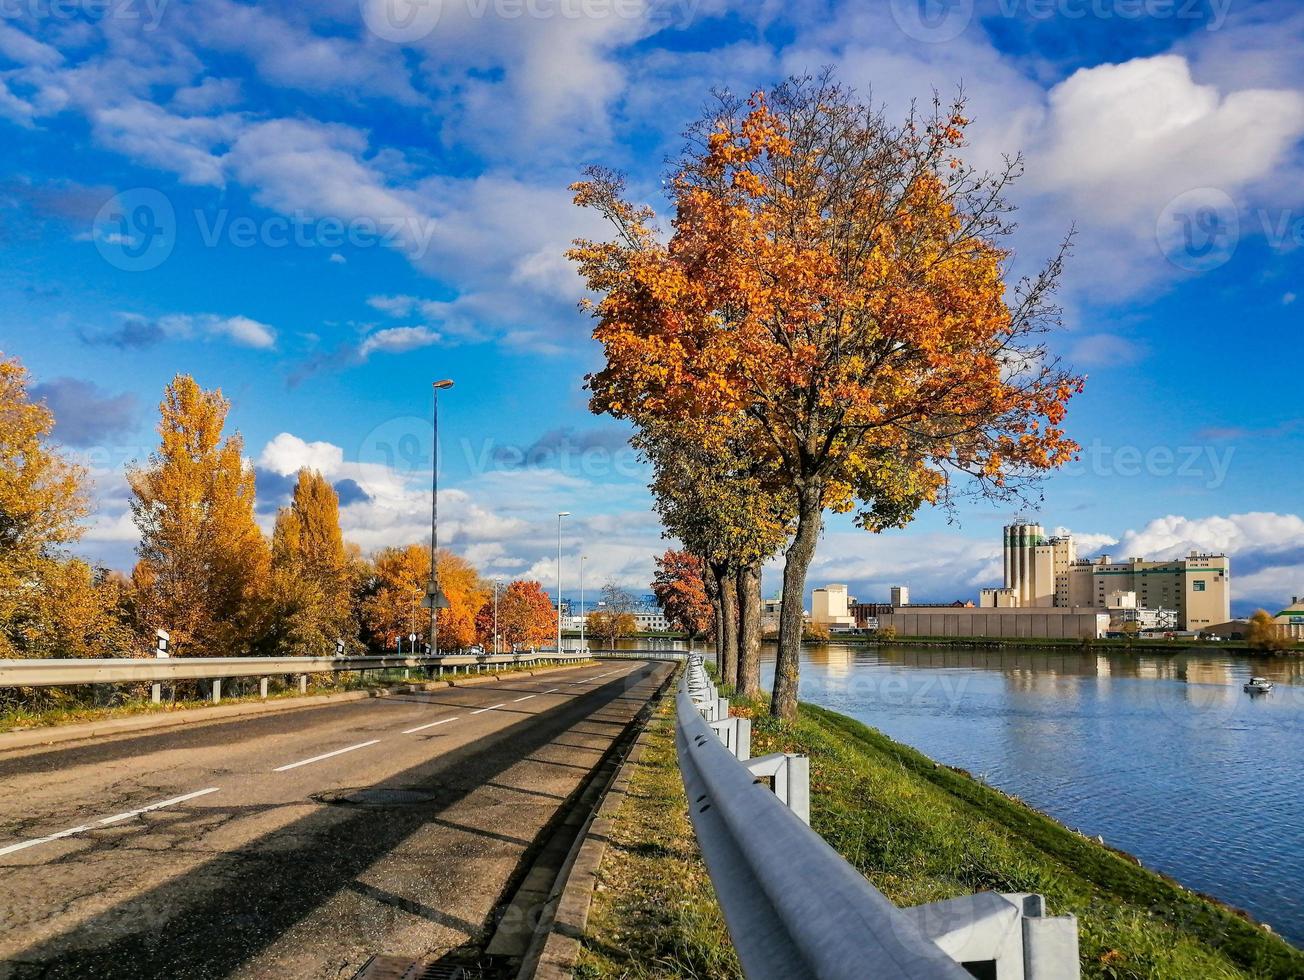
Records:
M1252 672L1277 689L1244 693ZM1304 945L1304 662L829 645L801 697Z

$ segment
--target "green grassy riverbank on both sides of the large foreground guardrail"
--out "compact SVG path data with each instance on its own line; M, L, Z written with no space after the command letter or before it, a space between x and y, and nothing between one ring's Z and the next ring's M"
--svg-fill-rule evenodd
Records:
M811 824L901 906L1038 891L1078 916L1088 977L1294 977L1304 954L1248 917L1138 867L968 774L835 712L784 726L760 705L752 752L811 758ZM692 838L673 704L615 817L578 977L738 976Z

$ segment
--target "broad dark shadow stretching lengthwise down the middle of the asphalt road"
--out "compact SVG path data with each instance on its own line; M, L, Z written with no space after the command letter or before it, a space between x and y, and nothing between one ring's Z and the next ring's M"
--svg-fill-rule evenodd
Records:
M25 949L0 968L0 976L78 980L227 976L342 889L477 933L484 924L472 925L411 899L377 894L377 889L357 878L413 833L432 824L447 824L441 814L479 786L553 743L593 712L619 701L630 687L659 669L665 665L643 666L583 699L376 783L378 788L428 791L428 799L417 805L317 807L274 833L236 851L218 854L186 874L91 916L68 933ZM456 777L452 782L450 773ZM420 860L417 872L437 863L437 857ZM436 890L432 884L432 891Z

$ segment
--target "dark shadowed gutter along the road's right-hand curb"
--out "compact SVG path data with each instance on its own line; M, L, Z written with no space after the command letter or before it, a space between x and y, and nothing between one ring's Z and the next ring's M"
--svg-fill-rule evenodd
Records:
M608 745L597 765L575 787L570 798L540 831L518 865L503 899L490 915L488 944L471 942L437 958L376 955L353 980L514 980L535 940L540 920L546 919L548 901L576 841L597 811L602 796L619 771L639 734L665 695L670 679L662 680L647 704ZM370 800L339 800L346 805L368 805Z

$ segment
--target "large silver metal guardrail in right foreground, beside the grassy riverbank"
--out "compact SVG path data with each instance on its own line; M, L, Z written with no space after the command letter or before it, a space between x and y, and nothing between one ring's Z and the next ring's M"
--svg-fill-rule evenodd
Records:
M810 829L806 757L750 760L751 722L729 718L696 656L675 709L689 814L748 980L1078 977L1077 920L1046 916L1041 895L892 904Z

